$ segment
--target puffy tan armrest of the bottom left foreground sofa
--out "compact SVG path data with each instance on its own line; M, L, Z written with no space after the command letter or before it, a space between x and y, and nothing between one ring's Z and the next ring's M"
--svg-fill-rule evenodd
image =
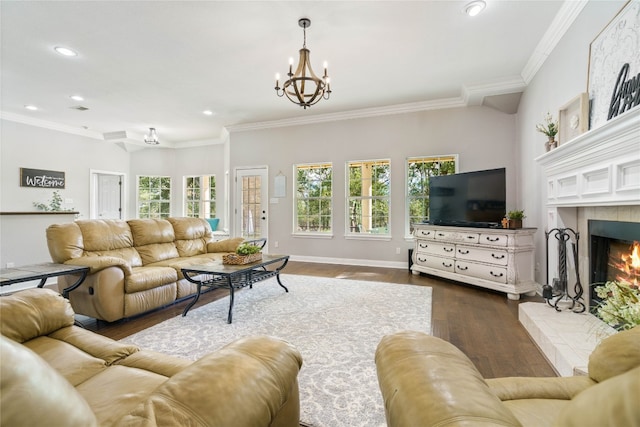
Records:
M285 341L243 338L171 377L118 424L298 426L301 366Z

